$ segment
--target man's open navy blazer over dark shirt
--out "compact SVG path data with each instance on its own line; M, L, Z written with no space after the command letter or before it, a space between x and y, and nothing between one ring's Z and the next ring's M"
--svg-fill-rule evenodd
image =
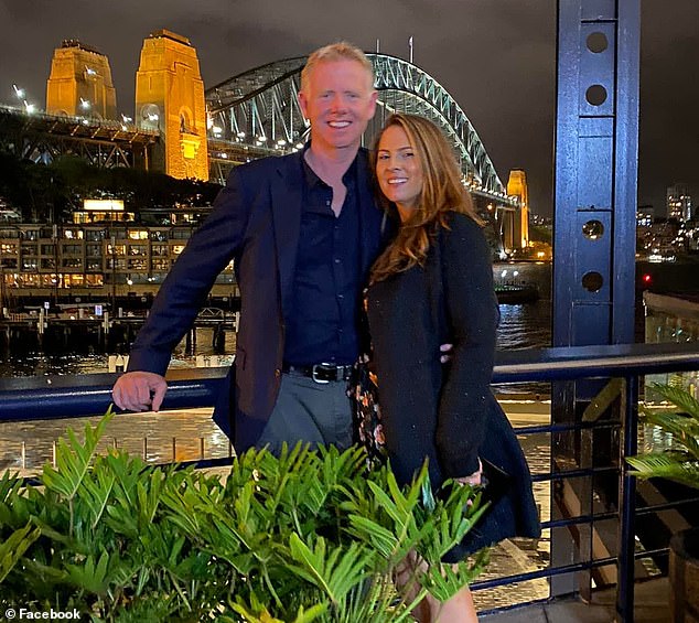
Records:
M218 273L233 259L240 289L234 366L214 420L238 452L255 445L275 407L284 352L284 310L293 287L303 208L301 151L235 168L212 214L192 235L153 301L129 357L129 372L164 375ZM361 270L368 271L387 234L372 193L367 151L358 152Z

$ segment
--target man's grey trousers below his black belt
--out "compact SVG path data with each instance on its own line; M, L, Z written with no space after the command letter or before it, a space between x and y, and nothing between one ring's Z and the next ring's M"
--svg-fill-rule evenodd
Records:
M283 442L298 441L312 448L334 444L346 450L352 444L352 406L344 380L324 384L294 373L281 375L277 404L257 448L268 447L278 454Z

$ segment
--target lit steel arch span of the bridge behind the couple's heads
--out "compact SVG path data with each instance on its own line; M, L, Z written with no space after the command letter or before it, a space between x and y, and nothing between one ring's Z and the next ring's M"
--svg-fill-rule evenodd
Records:
M365 143L395 111L421 115L449 137L461 163L464 183L482 197L478 205L495 213L496 227L505 212L518 208L507 195L473 125L447 89L417 65L367 54L376 72L378 111L365 132ZM301 149L309 123L299 107L301 69L305 57L287 58L257 67L206 90L209 115L211 179L223 183L232 167L256 158Z

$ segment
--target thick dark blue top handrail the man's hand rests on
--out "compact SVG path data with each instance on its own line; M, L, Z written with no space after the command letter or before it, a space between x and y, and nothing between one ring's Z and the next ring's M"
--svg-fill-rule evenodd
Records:
M493 384L572 380L699 369L699 343L615 344L496 354ZM226 367L168 373L163 409L214 405ZM104 413L118 374L0 379L0 421L52 419Z

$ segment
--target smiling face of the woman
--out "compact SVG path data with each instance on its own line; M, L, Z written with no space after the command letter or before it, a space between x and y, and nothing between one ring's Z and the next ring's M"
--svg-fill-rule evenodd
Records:
M422 192L422 165L408 135L400 126L388 126L376 150L376 178L386 198L398 207L406 221Z

